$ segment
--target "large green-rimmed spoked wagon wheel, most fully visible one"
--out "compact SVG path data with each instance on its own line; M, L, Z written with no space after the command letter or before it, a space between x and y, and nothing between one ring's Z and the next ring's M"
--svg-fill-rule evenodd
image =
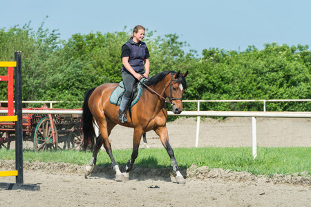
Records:
M33 145L37 152L46 151L49 149L57 150L58 146L58 134L55 124L54 125L54 133L51 127L50 119L45 117L39 121L37 124ZM55 135L55 140L53 140L53 134Z

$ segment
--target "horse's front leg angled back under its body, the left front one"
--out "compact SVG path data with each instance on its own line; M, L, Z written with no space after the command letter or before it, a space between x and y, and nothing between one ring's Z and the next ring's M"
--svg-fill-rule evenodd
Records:
M122 175L124 176L124 180L129 180L129 172L132 170L135 159L138 157L138 149L140 148L140 139L142 139L142 130L140 128L135 128L131 159L129 159L129 161L126 164L125 172L122 173Z

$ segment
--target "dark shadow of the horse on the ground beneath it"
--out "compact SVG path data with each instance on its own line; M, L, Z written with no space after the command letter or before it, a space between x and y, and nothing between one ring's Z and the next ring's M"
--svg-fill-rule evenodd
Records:
M125 171L126 163L120 162L120 170ZM156 168L154 167L156 166ZM187 174L187 168L180 169L182 175ZM158 165L156 157L148 157L147 159L137 160L130 172L130 180L145 181L145 180L161 180L161 181L176 181L175 172L171 166ZM115 170L111 164L97 164L93 168L90 178L115 179Z

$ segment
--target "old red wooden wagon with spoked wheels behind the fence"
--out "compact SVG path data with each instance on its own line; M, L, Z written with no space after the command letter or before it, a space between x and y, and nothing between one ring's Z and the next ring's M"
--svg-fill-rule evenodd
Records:
M6 110L8 108L0 107ZM47 108L23 108L27 110L82 110ZM6 116L8 114L0 114ZM82 148L82 115L75 114L34 114L23 113L23 141L32 141L33 148L39 151ZM15 141L15 122L0 123L0 148L10 149L11 141Z

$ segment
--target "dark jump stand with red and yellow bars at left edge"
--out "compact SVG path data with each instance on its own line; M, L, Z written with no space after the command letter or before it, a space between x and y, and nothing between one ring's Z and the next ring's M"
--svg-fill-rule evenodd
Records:
M11 86L8 86L8 115L9 115L8 117L14 117L14 118L12 119L9 118L9 119L2 120L2 121L16 121L15 122L15 167L16 167L16 170L2 171L0 172L0 176L16 176L16 183L15 184L0 183L0 188L6 188L7 190L17 190L17 189L40 190L40 186L36 184L23 184L23 114L22 114L23 108L21 105L22 104L21 103L22 101L21 51L15 51L14 55L15 55L15 62L0 62L0 66L11 67L11 65L6 66L6 64L15 63L15 116L12 116L12 112L14 111L14 105L13 105L14 103L13 103L13 98L12 98L14 92L13 92L13 88ZM8 71L9 71L9 68L8 68ZM10 72L9 74L8 72L8 77L13 78L13 73ZM17 117L17 119L15 117Z

